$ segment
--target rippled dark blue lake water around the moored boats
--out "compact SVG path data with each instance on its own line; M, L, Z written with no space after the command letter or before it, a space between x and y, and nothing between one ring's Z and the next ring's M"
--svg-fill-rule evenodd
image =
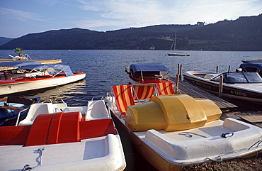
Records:
M228 66L235 70L241 60L247 57L262 57L262 52L220 52L220 51L181 51L188 57L165 56L169 50L24 50L32 59L62 59L62 64L70 65L73 71L86 72L86 78L79 82L50 89L45 92L25 94L25 97L41 96L41 101L62 98L68 106L84 106L93 96L105 96L110 87L128 84L125 66L132 63L157 62L166 65L171 75L176 75L178 64L182 72L189 70L226 72ZM0 58L15 55L13 50L0 50ZM127 167L125 170L155 170L136 150L123 142Z

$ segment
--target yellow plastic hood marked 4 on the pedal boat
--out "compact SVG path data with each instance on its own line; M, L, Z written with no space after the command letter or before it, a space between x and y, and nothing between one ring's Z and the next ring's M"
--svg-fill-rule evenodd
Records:
M132 131L178 131L204 126L221 114L208 99L194 99L186 94L153 96L149 102L129 106L125 124Z

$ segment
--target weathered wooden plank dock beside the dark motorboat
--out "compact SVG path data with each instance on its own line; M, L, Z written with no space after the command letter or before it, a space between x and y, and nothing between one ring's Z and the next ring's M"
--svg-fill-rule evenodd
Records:
M176 77L169 77L169 79L171 79L173 82L176 82ZM226 101L218 96L206 92L205 90L200 89L199 87L196 87L195 85L190 84L187 81L179 80L178 89L182 94L188 94L189 96L193 96L194 98L210 99L214 101L215 104L217 104L217 106L219 106L222 111L237 108L235 104L232 104L229 101Z

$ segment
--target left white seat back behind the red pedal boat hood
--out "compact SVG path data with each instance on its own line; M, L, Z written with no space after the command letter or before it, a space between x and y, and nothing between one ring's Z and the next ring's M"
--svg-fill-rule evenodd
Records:
M31 125L38 115L52 114L53 112L54 107L52 106L52 103L32 104L32 106L30 106L27 116L23 121L20 121L19 126Z

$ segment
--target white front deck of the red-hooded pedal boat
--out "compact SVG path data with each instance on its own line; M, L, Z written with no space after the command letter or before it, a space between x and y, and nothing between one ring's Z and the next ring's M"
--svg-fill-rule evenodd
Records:
M22 170L26 164L34 170L124 170L119 147L120 137L112 134L59 145L0 146L1 153L8 154L0 156L1 170ZM40 148L45 148L42 156Z

